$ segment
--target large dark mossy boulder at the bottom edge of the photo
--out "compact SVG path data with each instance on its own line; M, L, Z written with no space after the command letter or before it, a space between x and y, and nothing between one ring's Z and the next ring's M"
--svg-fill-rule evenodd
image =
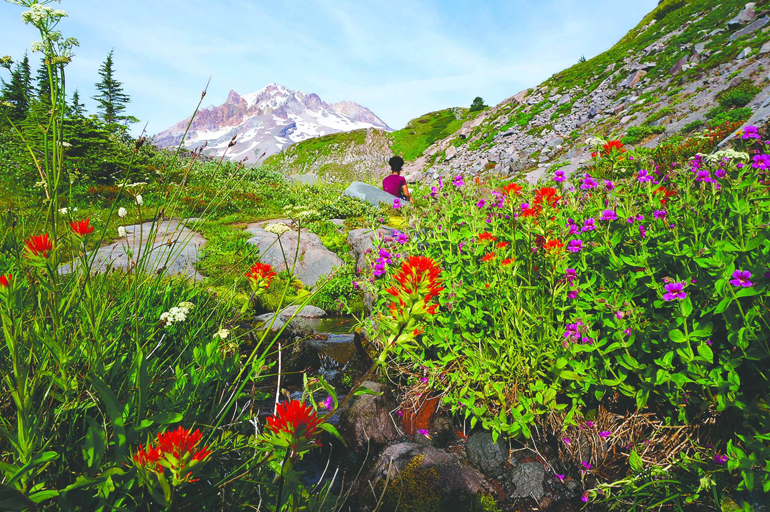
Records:
M390 480L385 487L389 468ZM470 510L479 493L495 494L495 491L478 470L464 464L457 453L447 453L430 445L400 443L383 450L367 477L353 489L358 502L353 510L371 512L380 495L383 495L380 510L395 510L397 505L398 510ZM426 504L430 504L430 509Z

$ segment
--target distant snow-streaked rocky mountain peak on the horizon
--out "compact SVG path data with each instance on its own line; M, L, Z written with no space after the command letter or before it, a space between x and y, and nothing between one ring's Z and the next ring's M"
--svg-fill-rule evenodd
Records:
M189 117L156 136L162 148L179 145ZM239 95L230 91L226 101L215 107L201 109L190 125L185 147L193 149L208 142L206 153L211 156L241 160L246 165L312 137L333 132L348 132L362 128L389 129L370 109L355 102L326 103L316 94L305 94L271 83L259 91ZM227 149L236 137L235 146Z

